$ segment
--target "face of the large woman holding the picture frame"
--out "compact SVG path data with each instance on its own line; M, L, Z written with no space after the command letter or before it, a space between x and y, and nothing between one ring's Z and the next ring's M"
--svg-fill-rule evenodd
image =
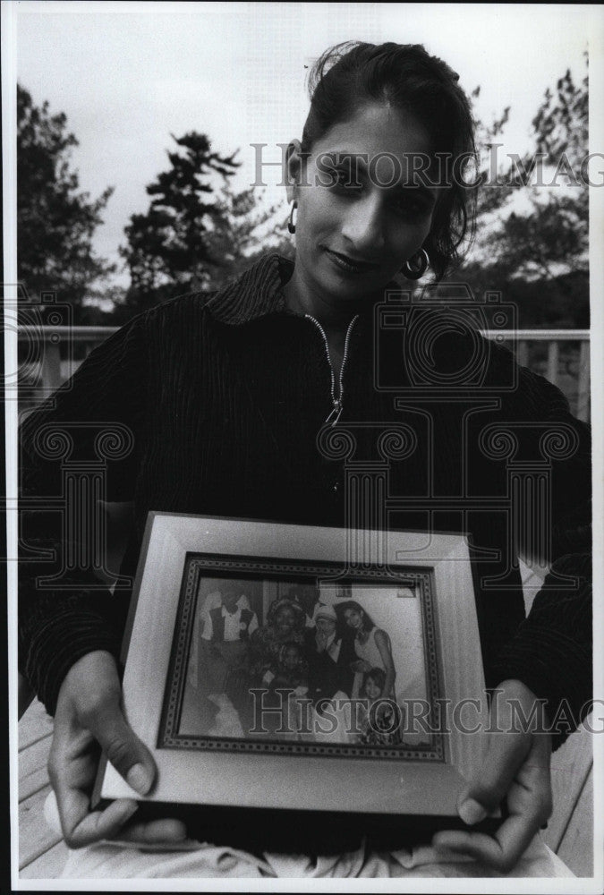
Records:
M300 185L288 196L298 200L298 275L331 305L378 294L430 233L437 190L413 187L428 133L413 115L374 104L314 144L305 176L296 152L288 173Z

